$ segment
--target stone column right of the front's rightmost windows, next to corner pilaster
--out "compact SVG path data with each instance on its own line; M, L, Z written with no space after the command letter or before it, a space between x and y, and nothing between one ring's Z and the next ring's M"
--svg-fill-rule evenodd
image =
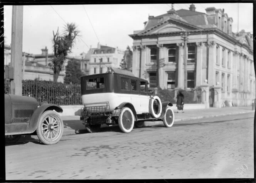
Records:
M202 42L197 42L195 43L197 45L197 60L196 60L196 76L195 76L195 86L201 86L202 84L202 79L206 79L206 78L202 78L202 61L203 61L203 43Z

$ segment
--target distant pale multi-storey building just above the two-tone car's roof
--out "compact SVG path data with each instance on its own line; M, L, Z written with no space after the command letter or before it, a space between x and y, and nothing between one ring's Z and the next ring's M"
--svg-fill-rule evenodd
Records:
M109 68L119 68L123 59L124 51L98 43L97 48L88 51L89 74L106 73Z

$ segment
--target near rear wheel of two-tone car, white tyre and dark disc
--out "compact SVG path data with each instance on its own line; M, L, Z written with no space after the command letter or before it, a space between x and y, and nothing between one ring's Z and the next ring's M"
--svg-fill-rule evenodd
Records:
M129 107L124 107L121 110L120 117L118 118L118 125L122 132L131 132L134 126L134 115Z

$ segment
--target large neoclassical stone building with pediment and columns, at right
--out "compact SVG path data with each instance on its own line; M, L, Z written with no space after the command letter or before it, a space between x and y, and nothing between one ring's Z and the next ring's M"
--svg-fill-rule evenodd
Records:
M187 89L209 86L209 105L222 102L250 105L255 99L253 37L232 32L233 19L224 9L206 8L206 14L169 10L149 16L144 30L134 31L132 72L150 87L184 89L184 41L187 41ZM182 35L181 35L182 34ZM204 81L207 79L207 83ZM208 100L208 99L207 99Z

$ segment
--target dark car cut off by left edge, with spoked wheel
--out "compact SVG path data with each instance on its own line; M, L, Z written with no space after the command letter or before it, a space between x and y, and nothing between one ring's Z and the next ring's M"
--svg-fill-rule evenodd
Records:
M58 112L62 111L47 102L38 107L33 97L5 94L5 142L17 142L24 134L37 134L47 145L59 142L64 126Z

